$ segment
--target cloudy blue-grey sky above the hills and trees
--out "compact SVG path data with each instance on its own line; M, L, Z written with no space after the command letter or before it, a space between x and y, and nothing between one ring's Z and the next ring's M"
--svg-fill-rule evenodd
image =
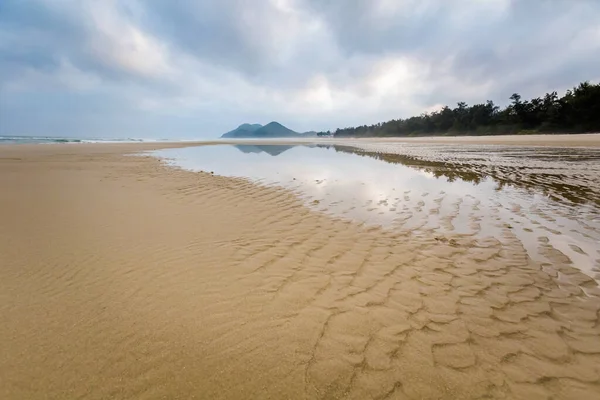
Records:
M0 0L0 135L334 130L600 81L598 0Z

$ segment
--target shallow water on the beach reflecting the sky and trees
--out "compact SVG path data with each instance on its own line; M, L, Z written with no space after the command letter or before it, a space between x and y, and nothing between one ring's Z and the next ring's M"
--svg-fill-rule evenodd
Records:
M597 149L354 143L154 155L184 169L286 187L334 217L441 241L516 237L544 268L572 264L600 279Z

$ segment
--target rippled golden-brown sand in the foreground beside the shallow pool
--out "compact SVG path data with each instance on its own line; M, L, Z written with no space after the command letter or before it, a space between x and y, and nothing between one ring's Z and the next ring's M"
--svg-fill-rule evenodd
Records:
M123 155L166 146L0 148L0 398L600 397L578 270Z

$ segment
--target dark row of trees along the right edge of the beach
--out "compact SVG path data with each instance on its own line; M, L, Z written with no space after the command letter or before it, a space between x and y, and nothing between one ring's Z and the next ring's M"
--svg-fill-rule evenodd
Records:
M335 137L500 135L528 133L600 132L600 84L589 82L568 90L523 100L515 93L504 109L488 100L483 104L448 106L418 117L375 125L337 129Z

